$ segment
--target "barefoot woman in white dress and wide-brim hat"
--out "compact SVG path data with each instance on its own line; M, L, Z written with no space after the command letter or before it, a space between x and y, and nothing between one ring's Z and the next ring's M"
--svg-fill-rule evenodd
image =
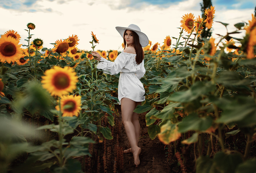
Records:
M133 153L134 163L137 167L140 164L139 154L141 152L141 148L138 147L140 123L138 114L133 110L145 100L145 90L140 82L140 78L145 74L142 47L149 44L149 39L134 24L128 27L116 27L116 30L123 37L125 44L125 49L116 60L114 62L108 61L100 57L100 54L95 51L92 51L92 55L100 61L97 65L98 69L108 71L111 75L121 72L118 84L118 99L121 104L122 121L131 145L131 148L126 149L124 153Z

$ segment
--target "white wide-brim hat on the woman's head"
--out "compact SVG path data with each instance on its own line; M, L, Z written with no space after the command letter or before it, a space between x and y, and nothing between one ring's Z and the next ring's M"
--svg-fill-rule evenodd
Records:
M119 26L116 27L116 30L119 32L119 34L122 37L124 36L124 32L125 32L126 29L134 31L134 32L136 32L138 34L139 39L140 39L140 45L142 47L145 47L145 46L147 46L149 44L148 37L146 36L146 34L144 34L143 32L140 31L140 28L137 25L130 24L127 28L126 27L119 27Z

